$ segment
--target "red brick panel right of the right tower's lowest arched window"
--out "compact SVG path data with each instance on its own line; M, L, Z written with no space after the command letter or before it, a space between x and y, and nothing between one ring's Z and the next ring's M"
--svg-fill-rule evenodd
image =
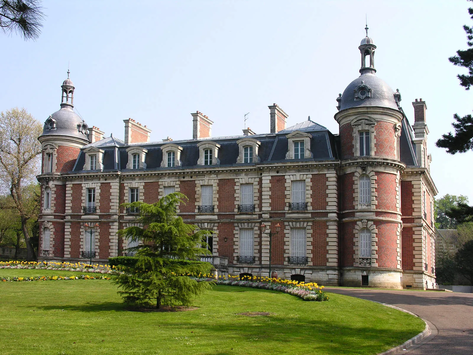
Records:
M397 268L397 223L376 222L378 267Z

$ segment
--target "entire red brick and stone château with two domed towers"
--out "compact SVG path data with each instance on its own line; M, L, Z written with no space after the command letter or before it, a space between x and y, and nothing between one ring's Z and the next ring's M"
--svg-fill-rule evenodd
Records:
M182 192L189 202L177 212L214 231L212 257L202 260L220 273L268 276L271 260L273 275L305 282L434 287L427 106L415 99L411 125L399 90L376 76L366 30L361 75L336 99L339 134L310 117L286 127L289 115L273 104L270 133L248 127L212 138L213 121L197 111L192 139L150 142L151 130L131 118L124 140L105 137L73 111L68 71L61 109L38 138L39 259L104 264L129 255L140 241L118 237L136 219L122 204Z

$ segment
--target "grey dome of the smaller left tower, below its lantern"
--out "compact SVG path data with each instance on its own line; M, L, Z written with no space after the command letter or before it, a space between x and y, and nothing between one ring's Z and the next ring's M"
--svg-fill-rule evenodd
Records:
M42 135L65 135L89 142L87 124L68 105L48 117Z

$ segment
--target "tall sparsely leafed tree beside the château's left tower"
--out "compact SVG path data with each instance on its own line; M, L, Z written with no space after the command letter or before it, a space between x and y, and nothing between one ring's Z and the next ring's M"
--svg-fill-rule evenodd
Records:
M0 113L0 189L11 196L10 204L1 207L18 211L28 261L36 259L28 220L37 216L39 204L39 188L34 182L41 155L37 138L42 132L42 124L24 108Z

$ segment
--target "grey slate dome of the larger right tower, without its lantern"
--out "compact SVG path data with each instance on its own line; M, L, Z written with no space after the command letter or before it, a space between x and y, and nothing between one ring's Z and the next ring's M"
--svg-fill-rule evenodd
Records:
M343 91L340 111L359 106L389 107L398 110L393 89L384 80L371 73L360 75Z

